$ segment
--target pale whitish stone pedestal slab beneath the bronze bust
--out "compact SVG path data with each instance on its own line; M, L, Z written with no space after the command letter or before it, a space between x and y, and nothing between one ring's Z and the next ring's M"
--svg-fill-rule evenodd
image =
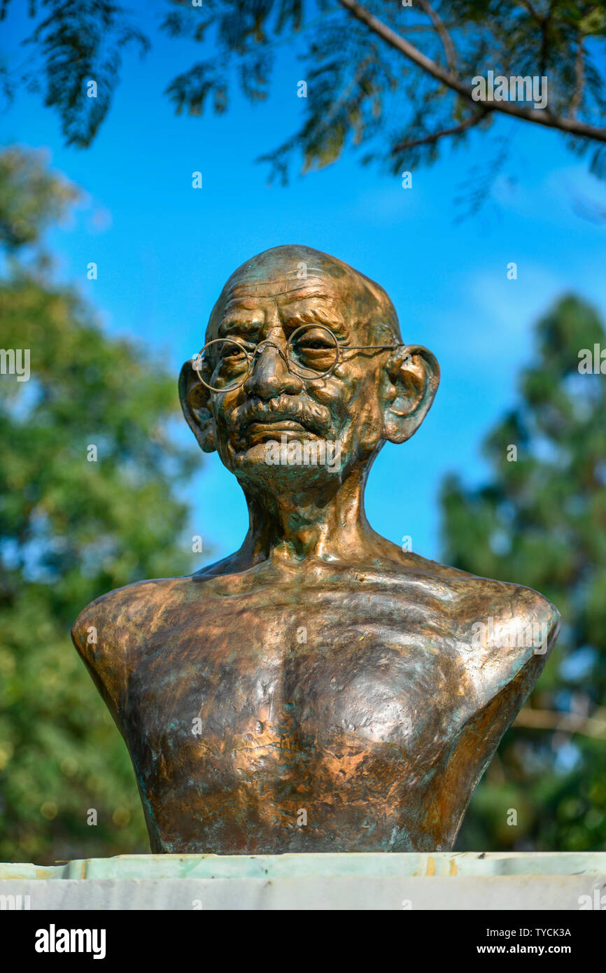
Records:
M2 909L606 909L606 852L119 855L0 864Z

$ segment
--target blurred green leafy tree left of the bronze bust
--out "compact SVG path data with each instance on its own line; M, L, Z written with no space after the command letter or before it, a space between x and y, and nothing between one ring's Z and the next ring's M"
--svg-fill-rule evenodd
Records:
M38 157L0 155L0 227L17 254L40 246L73 198ZM31 375L19 380L2 359L0 860L147 851L125 743L69 629L92 598L191 567L188 510L172 485L197 457L168 436L175 378L107 338L44 267L4 264L2 347L29 349Z

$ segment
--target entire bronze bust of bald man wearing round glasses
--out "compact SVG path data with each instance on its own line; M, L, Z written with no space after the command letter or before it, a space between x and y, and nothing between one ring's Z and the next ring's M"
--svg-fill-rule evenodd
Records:
M97 598L72 632L152 850L448 850L558 613L368 523L375 455L410 439L439 383L374 281L275 247L232 273L205 341L181 403L244 490L244 542Z

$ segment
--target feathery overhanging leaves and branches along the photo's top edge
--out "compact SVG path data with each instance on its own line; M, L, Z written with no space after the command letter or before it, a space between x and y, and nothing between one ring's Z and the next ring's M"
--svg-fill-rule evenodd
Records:
M367 145L363 162L400 173L433 162L442 140L464 139L496 117L562 132L590 168L606 173L606 3L577 0L166 0L170 37L208 42L212 55L168 86L177 112L226 111L234 87L252 102L267 97L276 47L296 45L302 66L301 128L262 157L286 178L294 154L303 169L337 160L347 144ZM0 0L0 17L11 0ZM68 144L89 145L105 117L122 52L149 46L114 0L30 0L36 25L22 70L0 68L18 84L44 90ZM145 5L149 16L149 5ZM300 42L300 43L298 43ZM476 101L472 79L547 76L549 102L535 111L517 100ZM89 83L96 82L95 96ZM304 86L304 90L301 88ZM295 92L293 92L295 93ZM500 144L503 161L511 138Z

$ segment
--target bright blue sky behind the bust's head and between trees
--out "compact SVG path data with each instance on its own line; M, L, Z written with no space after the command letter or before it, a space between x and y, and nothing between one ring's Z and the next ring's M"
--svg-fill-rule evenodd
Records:
M24 7L16 6L0 40L0 54L16 62ZM4 112L5 144L47 147L53 167L87 193L70 224L50 236L58 274L77 282L110 334L148 342L175 381L203 343L226 278L255 253L304 243L373 277L398 309L404 340L438 356L442 384L410 443L380 453L367 512L389 539L410 535L414 551L439 559L440 484L448 471L469 482L485 473L481 439L516 401L533 322L569 290L606 313L606 222L578 212L579 200L604 207L603 184L556 133L505 119L493 130L512 140L512 161L480 213L463 222L455 199L495 153L478 134L463 150L446 149L432 168L414 169L409 190L398 177L360 167L351 153L304 176L296 160L287 188L268 187L267 167L254 160L292 134L302 111L303 68L288 47L266 103L253 108L236 95L222 117L176 117L162 92L208 52L158 32L160 0L129 7L153 50L144 60L125 56L113 107L89 150L62 145L39 96L20 93ZM201 190L192 188L196 170ZM86 276L91 261L94 281ZM507 279L511 261L517 280ZM216 454L187 494L193 529L211 542L213 559L234 550L245 505Z

